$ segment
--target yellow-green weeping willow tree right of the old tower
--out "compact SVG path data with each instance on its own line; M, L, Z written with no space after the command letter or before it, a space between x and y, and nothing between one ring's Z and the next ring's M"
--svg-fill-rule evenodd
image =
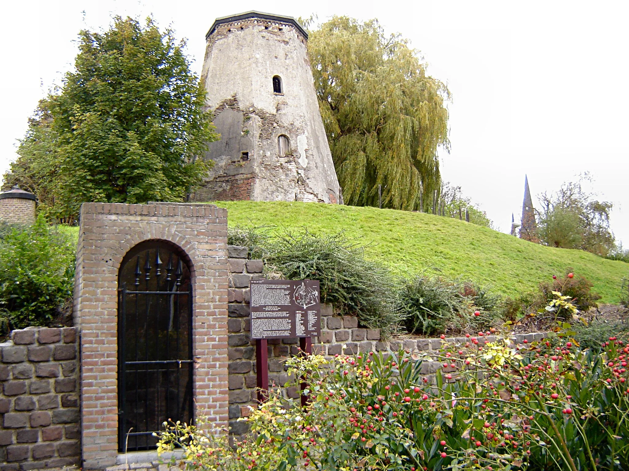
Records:
M408 41L377 20L335 16L309 33L308 52L323 124L345 203L430 207L449 149L450 92L426 75Z

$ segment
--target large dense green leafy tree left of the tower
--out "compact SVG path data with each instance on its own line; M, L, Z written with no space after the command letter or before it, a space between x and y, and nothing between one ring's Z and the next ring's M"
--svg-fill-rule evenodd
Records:
M6 175L71 221L85 201L181 201L216 140L205 92L172 30L114 18L81 31L75 70L40 103Z

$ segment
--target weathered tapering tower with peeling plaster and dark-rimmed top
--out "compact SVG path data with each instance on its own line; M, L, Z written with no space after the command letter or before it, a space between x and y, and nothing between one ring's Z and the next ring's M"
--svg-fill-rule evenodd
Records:
M193 200L342 203L307 40L294 18L257 11L209 28L201 80L221 139Z

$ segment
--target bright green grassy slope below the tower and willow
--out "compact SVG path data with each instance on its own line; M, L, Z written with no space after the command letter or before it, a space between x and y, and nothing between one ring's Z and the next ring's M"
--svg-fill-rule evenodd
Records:
M602 302L616 303L629 264L589 252L543 247L486 227L431 214L299 202L213 202L230 226L338 232L365 246L394 274L425 272L471 279L502 295L537 288L572 267L594 283Z

